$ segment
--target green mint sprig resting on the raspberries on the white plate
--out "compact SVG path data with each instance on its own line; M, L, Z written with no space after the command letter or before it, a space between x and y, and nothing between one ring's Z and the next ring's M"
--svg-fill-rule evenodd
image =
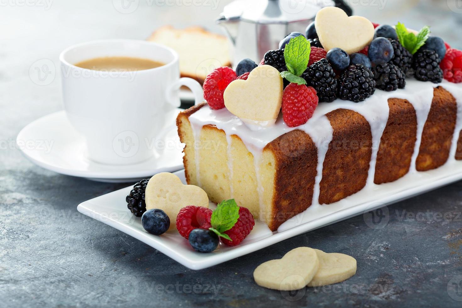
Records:
M234 199L223 200L221 201L215 210L212 212L212 218L210 223L212 228L209 230L215 232L218 236L221 236L229 241L232 241L231 238L223 233L237 223L239 219L239 205L236 204Z

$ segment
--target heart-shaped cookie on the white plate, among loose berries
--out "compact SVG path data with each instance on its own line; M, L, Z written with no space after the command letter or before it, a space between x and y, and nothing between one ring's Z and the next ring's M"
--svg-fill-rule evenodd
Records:
M198 186L183 185L180 178L169 172L152 176L146 187L146 210L160 209L170 218L171 229L176 229L178 212L185 206L208 208L207 193Z

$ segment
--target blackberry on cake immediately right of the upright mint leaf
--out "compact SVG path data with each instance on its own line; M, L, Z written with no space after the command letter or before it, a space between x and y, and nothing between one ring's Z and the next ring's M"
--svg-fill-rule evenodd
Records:
M332 66L327 59L321 59L308 68L302 74L307 85L316 90L319 102L332 102L337 97L337 79Z

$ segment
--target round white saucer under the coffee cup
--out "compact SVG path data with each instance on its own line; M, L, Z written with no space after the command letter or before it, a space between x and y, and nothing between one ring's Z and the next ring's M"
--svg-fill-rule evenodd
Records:
M134 165L105 165L89 160L84 139L67 120L64 111L46 115L31 122L19 132L16 143L36 165L61 173L102 182L133 182L159 172L183 168L182 144L176 132L176 115L168 113L165 123L169 132L154 146L152 158Z

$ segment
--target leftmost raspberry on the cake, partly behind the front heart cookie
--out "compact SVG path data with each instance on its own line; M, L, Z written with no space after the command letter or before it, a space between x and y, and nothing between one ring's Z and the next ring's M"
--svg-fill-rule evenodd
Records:
M204 80L204 98L212 109L225 108L223 92L236 79L236 72L231 67L219 67L207 75Z

